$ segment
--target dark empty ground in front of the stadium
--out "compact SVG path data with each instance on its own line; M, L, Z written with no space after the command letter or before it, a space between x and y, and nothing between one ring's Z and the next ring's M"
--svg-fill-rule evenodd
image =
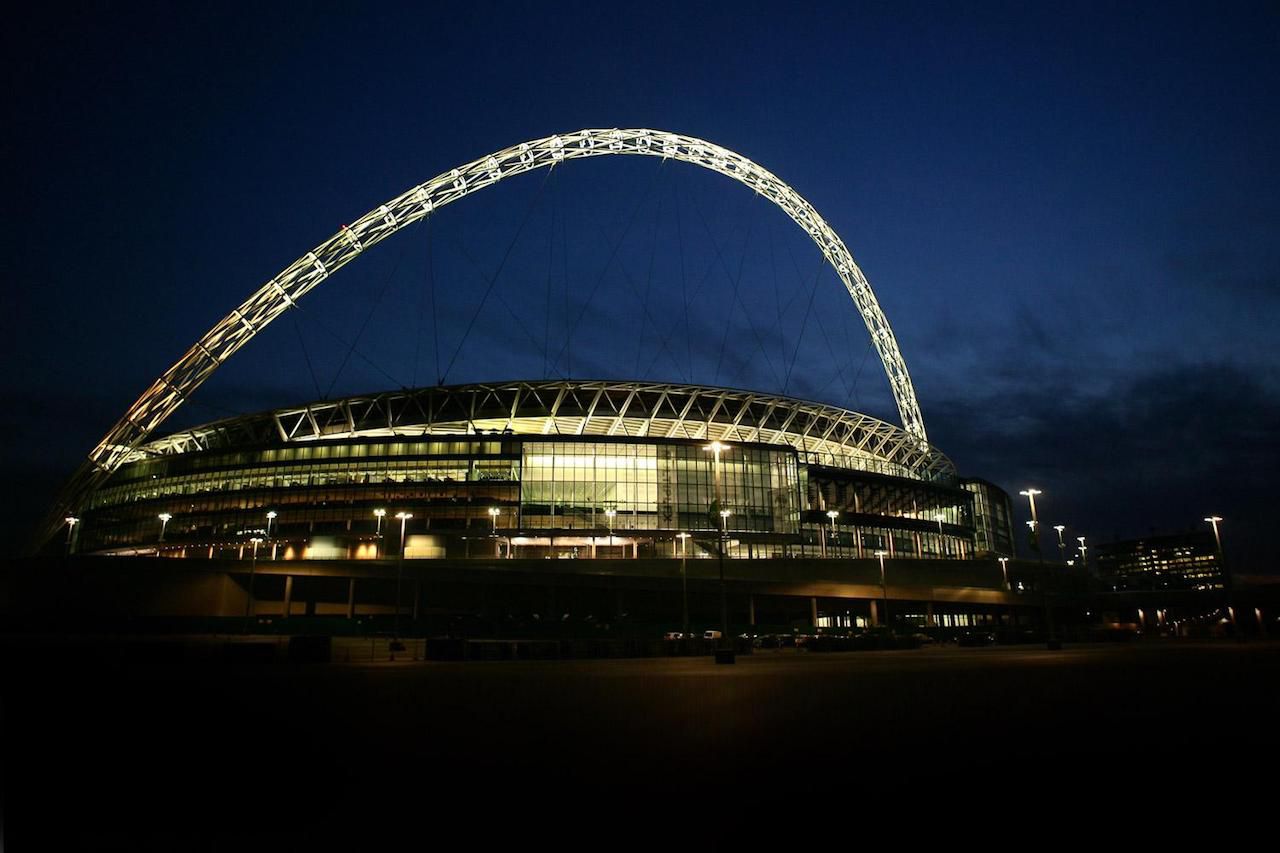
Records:
M1028 817L1059 834L1153 807L1252 815L1280 756L1276 643L787 649L719 667L5 652L14 849L297 849L384 830L415 848L750 849L765 825L809 847L931 824L1000 836Z

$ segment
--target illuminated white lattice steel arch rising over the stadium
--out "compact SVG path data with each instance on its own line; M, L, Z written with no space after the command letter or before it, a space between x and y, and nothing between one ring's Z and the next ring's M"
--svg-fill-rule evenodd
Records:
M369 211L349 225L343 225L333 237L289 264L218 321L129 406L64 488L58 519L65 511L74 511L83 497L110 476L125 456L164 423L223 361L311 288L365 250L431 211L503 178L541 167L554 167L564 160L608 154L669 158L718 172L755 190L795 220L835 268L867 323L872 343L884 364L884 373L888 374L902 428L919 439L922 448L927 446L924 420L920 418L915 389L911 387L906 362L897 348L888 320L849 248L818 215L813 205L768 169L704 140L643 128L584 129L521 142L438 174Z

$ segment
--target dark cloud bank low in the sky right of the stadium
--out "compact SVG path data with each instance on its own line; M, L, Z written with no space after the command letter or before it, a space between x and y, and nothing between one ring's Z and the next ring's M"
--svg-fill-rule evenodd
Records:
M1280 394L1267 377L1229 364L1169 365L1102 392L1025 386L934 400L931 438L963 474L1016 494L1036 485L1055 523L1092 535L1181 530L1208 512L1233 519L1265 562L1280 455Z

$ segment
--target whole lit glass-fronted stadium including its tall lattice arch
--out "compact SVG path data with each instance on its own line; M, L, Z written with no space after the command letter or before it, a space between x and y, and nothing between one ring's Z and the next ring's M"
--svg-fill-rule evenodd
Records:
M849 291L902 425L742 389L540 379L402 388L156 437L228 357L379 241L498 181L608 154L691 163L782 209ZM961 478L928 442L870 284L808 201L710 142L588 129L442 173L271 278L104 437L45 549L165 574L170 593L147 607L166 615L689 630L713 617L723 571L735 629L867 626L881 608L959 628L1034 617L1034 570L1010 565L1011 516L1004 491Z

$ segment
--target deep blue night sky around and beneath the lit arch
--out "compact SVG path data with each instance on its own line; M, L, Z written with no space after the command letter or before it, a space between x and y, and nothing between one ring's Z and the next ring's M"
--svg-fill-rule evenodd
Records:
M827 218L963 474L1036 485L1042 521L1092 542L1217 514L1235 567L1275 571L1275 4L182 5L51 4L0 35L9 540L343 223L524 140L650 127L751 158ZM602 158L388 240L168 426L564 375L897 421L851 300L781 211Z

